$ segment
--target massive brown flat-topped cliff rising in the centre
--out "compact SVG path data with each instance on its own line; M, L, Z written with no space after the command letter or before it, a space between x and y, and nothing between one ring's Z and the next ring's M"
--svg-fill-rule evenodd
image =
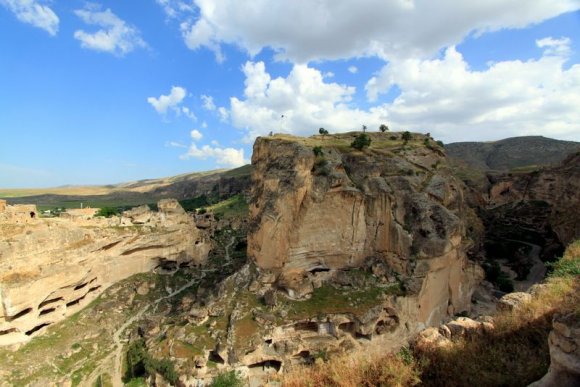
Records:
M416 303L409 322L438 324L469 308L482 277L466 258L462 183L428 137L368 135L363 151L353 133L256 140L248 256L294 298L328 272L370 267Z

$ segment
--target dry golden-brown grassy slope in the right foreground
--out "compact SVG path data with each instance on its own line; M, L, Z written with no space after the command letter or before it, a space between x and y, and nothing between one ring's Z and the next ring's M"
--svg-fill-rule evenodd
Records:
M284 376L285 386L527 386L549 366L554 313L580 316L580 241L572 243L526 307L495 316L495 329L447 347L347 355Z

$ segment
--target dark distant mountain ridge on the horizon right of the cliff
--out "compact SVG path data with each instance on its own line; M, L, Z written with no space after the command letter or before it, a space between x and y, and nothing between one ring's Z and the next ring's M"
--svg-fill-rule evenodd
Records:
M557 165L580 142L543 136L511 137L494 142L455 142L445 145L447 155L479 170L507 171L530 166Z

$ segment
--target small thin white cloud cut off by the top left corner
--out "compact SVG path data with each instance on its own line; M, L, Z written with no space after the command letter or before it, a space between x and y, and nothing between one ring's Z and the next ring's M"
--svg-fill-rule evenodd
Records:
M21 22L42 28L50 35L55 36L60 20L50 7L41 3L43 1L0 0L0 4L12 11Z

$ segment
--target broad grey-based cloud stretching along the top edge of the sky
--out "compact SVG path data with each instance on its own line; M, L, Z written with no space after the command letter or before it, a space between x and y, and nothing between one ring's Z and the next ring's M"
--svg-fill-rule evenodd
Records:
M191 49L224 60L221 44L256 55L271 47L295 63L378 56L427 57L470 33L521 28L580 8L577 0L195 0L182 23Z

